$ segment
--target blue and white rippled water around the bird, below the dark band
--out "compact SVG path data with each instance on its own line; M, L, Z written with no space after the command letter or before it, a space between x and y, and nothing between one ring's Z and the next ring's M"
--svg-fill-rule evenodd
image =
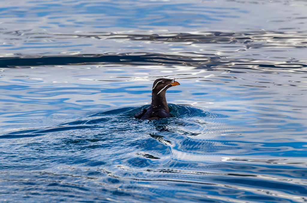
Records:
M6 198L305 201L302 67L3 70L1 179L18 191ZM138 121L157 77L181 83L166 94L174 118Z

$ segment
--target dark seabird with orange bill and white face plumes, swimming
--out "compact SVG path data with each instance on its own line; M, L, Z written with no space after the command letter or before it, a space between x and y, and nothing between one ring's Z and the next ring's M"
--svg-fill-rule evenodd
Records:
M172 86L180 85L173 79L159 78L153 82L151 104L147 109L139 111L134 117L140 120L155 120L172 117L167 106L165 92Z

